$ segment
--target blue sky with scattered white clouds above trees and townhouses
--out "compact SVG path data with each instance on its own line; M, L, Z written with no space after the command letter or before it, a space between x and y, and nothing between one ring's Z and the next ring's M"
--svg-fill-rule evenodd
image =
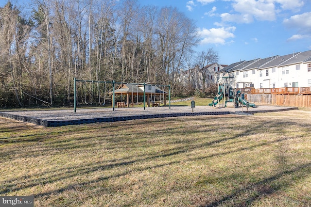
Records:
M23 5L29 0L12 0ZM0 0L3 6L7 0ZM138 0L176 7L193 19L197 51L213 48L220 64L311 50L311 0Z

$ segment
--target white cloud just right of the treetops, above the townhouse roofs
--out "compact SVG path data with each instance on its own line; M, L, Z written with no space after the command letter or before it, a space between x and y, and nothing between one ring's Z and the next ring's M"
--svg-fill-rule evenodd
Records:
M201 36L201 44L228 44L226 39L234 38L234 32L236 27L222 27L222 28L211 28L211 29L198 29L198 34ZM231 41L232 42L232 41Z

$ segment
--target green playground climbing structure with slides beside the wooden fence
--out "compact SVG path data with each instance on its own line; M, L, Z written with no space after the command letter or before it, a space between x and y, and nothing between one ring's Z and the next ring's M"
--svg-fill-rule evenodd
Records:
M212 100L212 103L209 103L209 106L214 108L220 107L230 107L238 108L241 106L246 107L255 107L254 103L249 103L244 97L244 94L240 90L233 88L234 77L229 76L228 73L223 77L223 83L218 85L218 93Z

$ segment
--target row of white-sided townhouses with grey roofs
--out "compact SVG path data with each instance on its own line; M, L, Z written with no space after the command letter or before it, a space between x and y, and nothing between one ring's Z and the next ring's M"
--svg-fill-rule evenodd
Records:
M311 50L231 64L215 74L219 77L215 83L226 72L235 77L236 83L247 82L257 89L310 87Z

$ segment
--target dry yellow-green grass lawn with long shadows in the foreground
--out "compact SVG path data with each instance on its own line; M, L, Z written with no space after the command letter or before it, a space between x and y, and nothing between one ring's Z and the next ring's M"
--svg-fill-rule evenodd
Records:
M0 118L0 196L35 195L35 207L311 206L310 116L51 128Z

